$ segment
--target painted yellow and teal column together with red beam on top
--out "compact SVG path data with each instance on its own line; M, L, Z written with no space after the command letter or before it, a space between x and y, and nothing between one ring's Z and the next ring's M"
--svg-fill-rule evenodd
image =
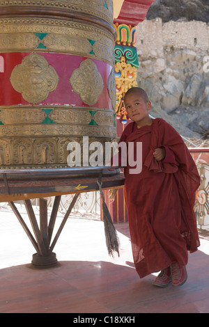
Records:
M139 67L136 42L136 25L142 22L150 4L155 0L116 0L114 1L114 26L117 32L115 56L116 76L116 116L117 136L121 137L130 120L127 118L123 97L125 92L137 86L137 67ZM118 189L114 202L109 202L107 192L105 198L114 223L127 222L127 210L123 189Z

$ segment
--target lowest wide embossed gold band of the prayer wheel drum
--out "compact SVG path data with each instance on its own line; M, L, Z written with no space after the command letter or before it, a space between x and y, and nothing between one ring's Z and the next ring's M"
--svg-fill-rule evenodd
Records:
M95 134L98 131L96 127L93 127L93 130ZM104 136L107 135L107 127L104 127L102 132L103 135L100 134L99 137L89 136L89 143L99 141L105 147L105 142L109 142L109 137ZM113 132L110 130L109 136L112 136ZM116 141L114 138L111 139ZM82 147L82 138L68 135L0 138L1 169L68 168L66 159L69 154L67 150L69 142L77 142Z

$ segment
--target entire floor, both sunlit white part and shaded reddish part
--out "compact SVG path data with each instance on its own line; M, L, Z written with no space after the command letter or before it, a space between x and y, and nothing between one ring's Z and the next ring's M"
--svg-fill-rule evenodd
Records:
M157 273L139 279L127 223L116 225L120 257L112 258L102 221L71 214L54 248L59 263L38 269L31 265L36 250L22 226L0 207L1 313L209 312L208 234L200 234L199 250L189 254L185 285L161 289L151 284Z

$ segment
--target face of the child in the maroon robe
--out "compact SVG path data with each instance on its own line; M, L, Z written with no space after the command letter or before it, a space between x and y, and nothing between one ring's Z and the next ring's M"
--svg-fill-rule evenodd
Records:
M151 103L149 100L146 101L140 93L132 93L125 97L125 109L128 117L137 122L139 127L150 124L148 111L151 109Z

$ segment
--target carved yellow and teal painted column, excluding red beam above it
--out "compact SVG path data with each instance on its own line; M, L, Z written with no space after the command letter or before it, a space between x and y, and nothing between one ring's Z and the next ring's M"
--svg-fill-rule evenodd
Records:
M136 26L127 24L114 24L117 39L114 49L115 77L116 77L116 117L117 135L121 136L125 126L130 122L125 111L123 97L129 88L137 86L137 67L139 61L136 42ZM127 209L125 207L125 195L123 189L118 189L114 202L109 202L107 191L106 202L114 223L127 222Z

